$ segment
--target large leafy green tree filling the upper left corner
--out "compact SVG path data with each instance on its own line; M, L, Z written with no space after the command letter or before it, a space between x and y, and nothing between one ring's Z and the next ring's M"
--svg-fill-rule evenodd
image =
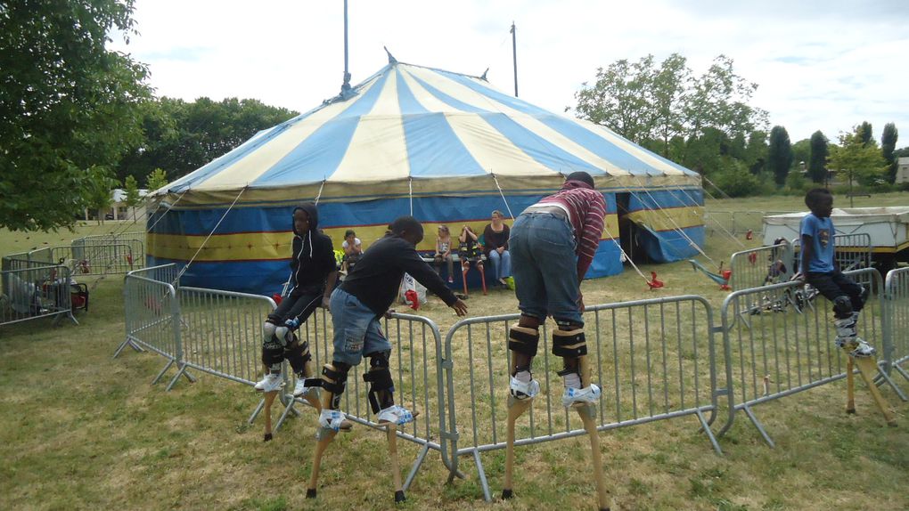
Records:
M0 226L71 225L95 190L89 169L113 167L141 140L147 70L105 48L112 32L134 33L133 4L0 4Z

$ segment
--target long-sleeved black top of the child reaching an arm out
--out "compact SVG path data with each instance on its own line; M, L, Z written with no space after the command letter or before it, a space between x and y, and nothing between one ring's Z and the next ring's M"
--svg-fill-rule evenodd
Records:
M384 314L395 301L405 272L445 304L451 306L457 300L445 280L420 258L414 245L397 236L386 236L373 243L360 256L340 288L354 295L376 315Z

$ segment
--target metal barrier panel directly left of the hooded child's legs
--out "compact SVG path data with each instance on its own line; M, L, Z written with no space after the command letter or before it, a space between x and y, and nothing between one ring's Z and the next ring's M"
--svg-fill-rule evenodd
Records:
M181 373L193 368L255 385L262 374L262 324L275 310L275 301L254 294L189 287L181 287L176 293L184 355Z

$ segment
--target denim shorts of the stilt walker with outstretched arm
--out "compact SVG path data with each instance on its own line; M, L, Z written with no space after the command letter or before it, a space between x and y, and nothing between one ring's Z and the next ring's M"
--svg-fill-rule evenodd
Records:
M392 343L382 333L379 317L354 295L335 288L331 308L335 326L332 360L356 366L364 355L392 349Z

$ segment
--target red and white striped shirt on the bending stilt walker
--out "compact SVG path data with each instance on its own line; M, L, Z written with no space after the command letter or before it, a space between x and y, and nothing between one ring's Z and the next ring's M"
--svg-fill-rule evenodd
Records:
M558 204L568 211L577 246L577 279L584 279L603 235L606 203L603 194L581 181L566 181L562 190L544 197L538 204Z

